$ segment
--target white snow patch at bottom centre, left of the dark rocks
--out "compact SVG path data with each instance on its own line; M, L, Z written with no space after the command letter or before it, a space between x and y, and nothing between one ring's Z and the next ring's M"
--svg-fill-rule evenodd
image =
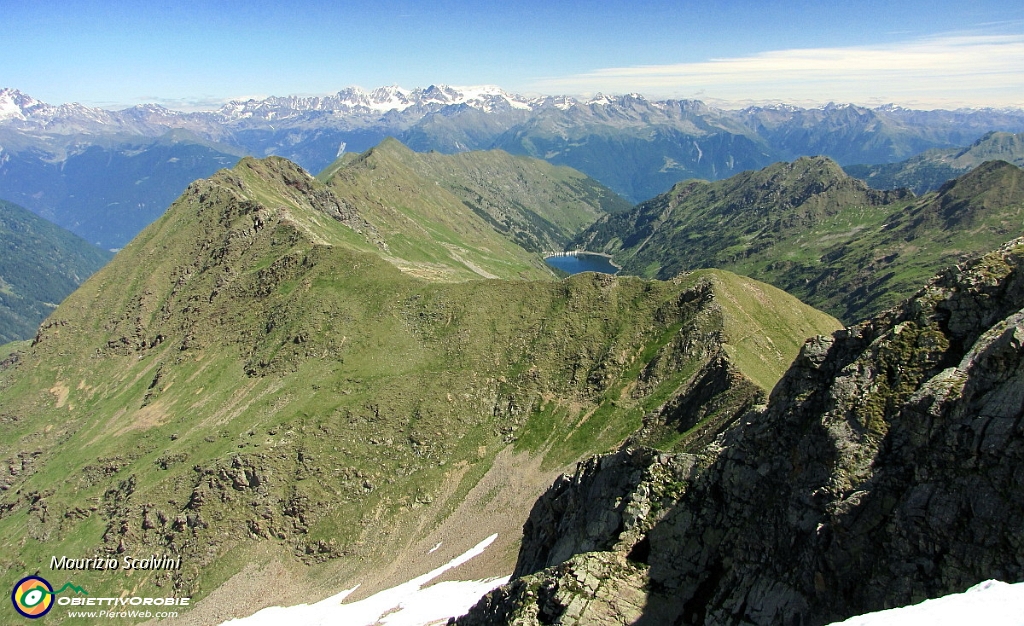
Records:
M452 581L437 583L429 587L424 585L452 568L457 568L482 553L497 538L498 535L492 535L443 566L357 602L346 604L342 600L355 591L358 585L313 604L298 604L287 608L268 607L247 618L224 622L222 626L276 626L279 624L426 626L438 621L445 621L447 618L457 617L469 611L470 607L475 604L481 595L507 583L509 578ZM434 547L434 550L438 547L440 547L439 543Z

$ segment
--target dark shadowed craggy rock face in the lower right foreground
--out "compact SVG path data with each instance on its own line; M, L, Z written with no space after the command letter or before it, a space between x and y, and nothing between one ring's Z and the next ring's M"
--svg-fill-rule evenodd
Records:
M696 456L581 464L535 507L519 578L458 623L822 624L1018 582L1022 485L1016 240L810 340Z

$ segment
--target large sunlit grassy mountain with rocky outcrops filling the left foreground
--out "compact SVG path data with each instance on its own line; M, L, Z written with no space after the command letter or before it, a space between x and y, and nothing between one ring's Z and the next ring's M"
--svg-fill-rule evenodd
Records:
M333 189L388 171L367 161ZM391 175L378 182L401 189L371 198L415 193ZM8 360L5 581L55 549L182 556L179 572L76 573L93 595L198 600L272 564L307 594L426 571L521 524L539 492L496 488L467 504L501 451L564 467L694 389L710 391L703 423L726 423L763 402L805 336L838 327L717 270L426 281L395 266L398 245L382 249L366 227L379 216L362 222L348 202L282 159L243 160L193 183ZM381 238L387 225L374 226ZM726 384L701 386L715 364ZM435 562L413 549L439 537ZM506 554L488 575L511 569ZM202 619L229 617L216 610Z

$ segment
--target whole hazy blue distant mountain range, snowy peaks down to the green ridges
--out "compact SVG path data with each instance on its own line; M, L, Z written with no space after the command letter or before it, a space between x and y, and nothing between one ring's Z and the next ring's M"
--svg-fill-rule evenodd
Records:
M802 156L824 155L845 166L890 163L991 131L1024 132L1024 111L1015 110L729 110L641 94L525 97L444 85L253 98L219 112L54 107L3 89L0 111L0 198L111 249L127 243L188 181L243 155L282 156L318 172L388 136L421 153L497 149L572 167L640 203L682 179L724 179ZM180 138L173 150L145 149L168 133ZM68 168L98 171L73 179ZM172 179L174 189L156 182ZM89 207L102 209L103 219L78 215Z

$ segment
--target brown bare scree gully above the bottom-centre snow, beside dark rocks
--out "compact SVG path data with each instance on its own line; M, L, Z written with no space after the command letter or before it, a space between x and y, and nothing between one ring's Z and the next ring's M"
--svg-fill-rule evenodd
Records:
M188 613L160 624L214 626L266 607L313 603L358 585L345 598L356 601L443 566L494 534L498 539L482 554L428 584L508 576L534 502L565 470L542 469L541 458L506 448L465 498L451 503L454 510L445 502L457 497L465 467L453 468L430 506L393 518L386 535L381 534L381 549L375 551L381 556L346 557L306 568L283 554L264 554L270 557L264 559L267 565L247 567ZM440 510L452 512L438 518Z

